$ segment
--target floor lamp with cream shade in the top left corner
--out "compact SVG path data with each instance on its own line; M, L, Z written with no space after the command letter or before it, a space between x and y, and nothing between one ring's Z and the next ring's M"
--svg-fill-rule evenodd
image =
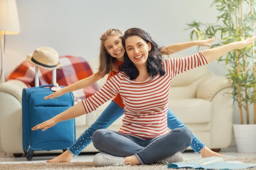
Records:
M5 35L20 33L16 0L0 0L0 46L1 46L1 74L0 83L5 81L4 76L4 39Z

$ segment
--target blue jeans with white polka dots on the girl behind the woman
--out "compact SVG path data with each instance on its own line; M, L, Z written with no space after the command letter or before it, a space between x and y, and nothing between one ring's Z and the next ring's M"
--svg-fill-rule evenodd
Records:
M77 156L81 151L92 142L92 134L98 129L106 129L110 124L115 122L120 116L124 114L123 108L117 105L114 101L108 105L108 107L101 113L101 116L90 126L89 129L85 130L84 133L72 144L68 150ZM168 128L175 129L180 127L186 127L172 112L168 109L167 112L167 123ZM200 150L205 146L198 137L193 134L193 140L191 143L191 148L195 153L200 152Z

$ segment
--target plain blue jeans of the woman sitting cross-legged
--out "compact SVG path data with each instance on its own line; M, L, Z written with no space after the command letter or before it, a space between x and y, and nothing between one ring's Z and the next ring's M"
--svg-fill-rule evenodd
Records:
M119 157L135 155L141 164L149 164L189 147L192 132L188 128L176 128L154 139L141 139L109 129L99 129L92 135L92 142L100 152Z

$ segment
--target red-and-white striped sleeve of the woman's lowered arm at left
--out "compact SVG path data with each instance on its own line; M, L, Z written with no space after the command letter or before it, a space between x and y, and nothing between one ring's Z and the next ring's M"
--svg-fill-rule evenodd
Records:
M82 100L85 113L90 113L103 105L119 93L121 86L121 76L119 74L112 76L94 95Z

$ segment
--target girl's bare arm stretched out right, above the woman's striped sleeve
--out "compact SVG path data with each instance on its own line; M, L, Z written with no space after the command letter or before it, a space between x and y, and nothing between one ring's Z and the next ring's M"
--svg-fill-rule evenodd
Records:
M211 39L196 40L196 41L190 41L190 42L185 42L185 43L172 44L172 45L162 48L160 52L162 55L167 55L167 54L170 55L170 54L174 54L176 52L180 52L182 50L186 50L187 48L191 48L193 46L211 47L210 43L215 40L216 40L216 38L213 37Z

